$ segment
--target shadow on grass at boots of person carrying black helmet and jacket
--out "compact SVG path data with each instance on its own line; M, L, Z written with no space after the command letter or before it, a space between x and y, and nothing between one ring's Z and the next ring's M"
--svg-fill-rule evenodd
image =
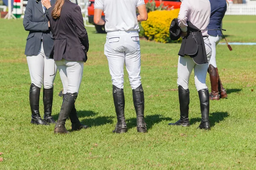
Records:
M215 112L209 115L209 122L211 127L215 126L215 123L221 122L225 117L229 116L227 112ZM190 125L195 124L196 122L201 122L201 118L192 118L190 119Z

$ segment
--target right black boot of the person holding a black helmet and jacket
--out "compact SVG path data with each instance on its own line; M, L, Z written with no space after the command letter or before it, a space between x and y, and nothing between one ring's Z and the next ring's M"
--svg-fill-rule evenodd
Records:
M198 91L200 108L201 108L201 124L199 125L200 129L210 130L209 123L209 91L207 88Z

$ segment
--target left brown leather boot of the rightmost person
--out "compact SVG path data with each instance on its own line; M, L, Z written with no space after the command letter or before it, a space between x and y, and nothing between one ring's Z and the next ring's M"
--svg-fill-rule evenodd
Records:
M210 100L219 100L220 95L218 91L218 69L213 67L213 65L209 65L208 68L210 81L211 81L211 93L209 94Z

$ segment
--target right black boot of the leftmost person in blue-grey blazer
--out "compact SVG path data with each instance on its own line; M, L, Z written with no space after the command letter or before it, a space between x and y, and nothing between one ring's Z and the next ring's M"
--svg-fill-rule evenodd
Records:
M52 118L52 100L53 100L53 88L46 89L43 91L44 101L44 121L47 123L56 123Z

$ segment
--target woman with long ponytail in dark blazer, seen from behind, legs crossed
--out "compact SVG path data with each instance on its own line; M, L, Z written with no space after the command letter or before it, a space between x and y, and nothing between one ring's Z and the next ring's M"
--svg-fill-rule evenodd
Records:
M56 0L55 5L46 11L54 39L54 60L60 72L64 94L54 133L68 133L65 127L68 117L72 131L85 129L88 126L81 124L75 108L89 50L81 8L69 0Z

